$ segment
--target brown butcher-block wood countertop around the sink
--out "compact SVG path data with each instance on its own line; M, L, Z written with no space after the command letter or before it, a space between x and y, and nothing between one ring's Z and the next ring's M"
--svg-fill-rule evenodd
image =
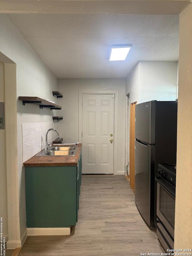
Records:
M55 145L53 145L55 146ZM58 146L62 146L61 144ZM77 146L76 154L73 155L54 155L54 156L36 156L34 155L29 160L23 163L24 166L76 166L78 164L79 155L81 152L82 144L66 145Z

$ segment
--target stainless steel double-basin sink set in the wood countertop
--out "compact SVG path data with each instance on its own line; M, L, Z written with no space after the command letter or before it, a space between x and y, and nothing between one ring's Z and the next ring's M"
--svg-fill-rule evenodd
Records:
M50 147L47 151L41 151L36 156L50 156L50 155L71 155L74 156L77 151L77 146L68 147L68 146L60 146L60 147Z

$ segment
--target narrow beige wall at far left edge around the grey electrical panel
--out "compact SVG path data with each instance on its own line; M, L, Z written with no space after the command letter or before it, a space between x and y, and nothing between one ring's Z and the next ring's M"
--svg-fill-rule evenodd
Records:
M5 102L4 88L4 63L0 62L0 102ZM6 127L5 127L6 128ZM6 130L0 129L0 217L3 218L3 236L8 238L8 219L7 219L7 169L6 169Z

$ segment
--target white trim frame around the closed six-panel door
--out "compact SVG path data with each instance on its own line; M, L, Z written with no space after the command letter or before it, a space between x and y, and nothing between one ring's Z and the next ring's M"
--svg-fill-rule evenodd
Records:
M118 125L118 91L102 90L79 90L79 143L82 143L82 97L83 94L114 94L114 151L113 151L113 174L117 175L117 125Z

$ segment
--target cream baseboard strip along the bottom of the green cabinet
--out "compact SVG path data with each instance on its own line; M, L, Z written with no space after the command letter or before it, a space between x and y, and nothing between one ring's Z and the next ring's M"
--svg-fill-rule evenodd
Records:
M57 236L70 235L71 226L69 227L28 227L28 236Z

